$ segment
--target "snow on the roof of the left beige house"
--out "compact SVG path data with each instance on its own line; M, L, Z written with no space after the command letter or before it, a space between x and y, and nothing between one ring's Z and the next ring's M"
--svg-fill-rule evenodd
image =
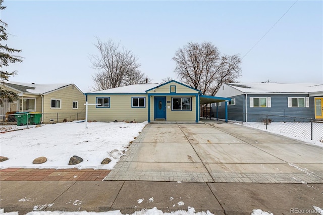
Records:
M8 81L5 85L17 89L23 93L43 94L71 84L36 84L36 83L21 83Z

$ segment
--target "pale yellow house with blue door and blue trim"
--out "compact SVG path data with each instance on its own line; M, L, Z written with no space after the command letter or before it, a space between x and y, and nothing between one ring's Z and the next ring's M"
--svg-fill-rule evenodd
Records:
M229 98L201 95L177 81L134 84L85 93L88 120L199 122L199 106Z

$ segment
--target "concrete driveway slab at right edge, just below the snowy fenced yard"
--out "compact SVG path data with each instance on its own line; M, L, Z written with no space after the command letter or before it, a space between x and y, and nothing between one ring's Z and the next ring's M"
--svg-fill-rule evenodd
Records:
M301 143L283 144L251 144L255 147L274 154L287 163L323 163L323 148Z

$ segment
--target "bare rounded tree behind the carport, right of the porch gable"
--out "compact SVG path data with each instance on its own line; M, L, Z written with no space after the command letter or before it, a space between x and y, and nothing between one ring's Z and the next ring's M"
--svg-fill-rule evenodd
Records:
M221 55L211 42L189 42L173 60L180 80L206 95L215 95L223 83L235 82L241 72L239 55Z

